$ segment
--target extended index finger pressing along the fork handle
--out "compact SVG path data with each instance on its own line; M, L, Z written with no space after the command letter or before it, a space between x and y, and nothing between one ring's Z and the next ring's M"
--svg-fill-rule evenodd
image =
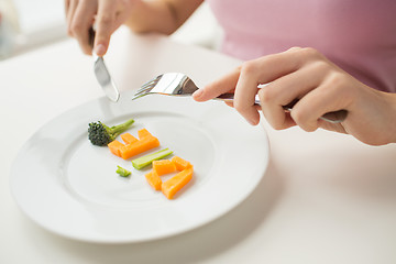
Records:
M240 68L235 68L233 72L227 74L220 79L194 92L193 98L196 101L207 101L222 94L231 92L235 89L239 75Z

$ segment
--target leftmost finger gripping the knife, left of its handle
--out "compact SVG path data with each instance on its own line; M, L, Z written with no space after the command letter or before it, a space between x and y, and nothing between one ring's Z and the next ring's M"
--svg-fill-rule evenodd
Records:
M97 10L97 4L92 1L77 7L72 22L72 31L77 38L82 52L90 55L92 47L89 41L89 29L92 26L92 20Z

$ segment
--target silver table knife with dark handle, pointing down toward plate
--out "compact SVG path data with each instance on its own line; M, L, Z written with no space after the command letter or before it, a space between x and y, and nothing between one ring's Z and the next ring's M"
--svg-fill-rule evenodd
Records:
M89 44L94 48L95 30L91 26L89 29ZM92 52L94 56L94 73L95 76L105 91L105 95L111 100L117 102L120 98L120 92L116 86L114 80L111 78L108 67L105 64L103 57L97 56Z

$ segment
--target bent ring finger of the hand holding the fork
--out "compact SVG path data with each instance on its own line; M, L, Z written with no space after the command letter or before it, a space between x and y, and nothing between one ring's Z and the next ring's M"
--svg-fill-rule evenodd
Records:
M294 122L286 118L283 106L302 98L322 81L327 65L315 63L283 76L258 91L262 111L274 129L289 128Z

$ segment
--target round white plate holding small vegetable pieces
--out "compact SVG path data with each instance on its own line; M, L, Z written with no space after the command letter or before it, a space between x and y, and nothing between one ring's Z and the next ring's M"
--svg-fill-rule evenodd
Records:
M186 232L219 218L245 199L264 176L268 142L262 127L249 125L224 103L147 96L118 103L105 98L73 109L40 129L22 147L11 172L18 205L57 234L90 242L148 241ZM113 125L135 119L193 163L194 180L166 199L145 180L147 169L87 139L88 123ZM132 170L116 174L117 165Z

